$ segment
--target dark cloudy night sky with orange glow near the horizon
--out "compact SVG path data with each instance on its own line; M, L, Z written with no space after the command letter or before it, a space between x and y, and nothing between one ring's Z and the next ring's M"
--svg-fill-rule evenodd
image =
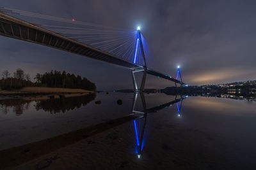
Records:
M256 1L1 1L0 6L136 30L154 56L148 67L189 85L256 80ZM98 90L131 89L131 70L47 46L0 37L0 72L31 77L56 69L93 81ZM173 86L147 76L146 88Z

